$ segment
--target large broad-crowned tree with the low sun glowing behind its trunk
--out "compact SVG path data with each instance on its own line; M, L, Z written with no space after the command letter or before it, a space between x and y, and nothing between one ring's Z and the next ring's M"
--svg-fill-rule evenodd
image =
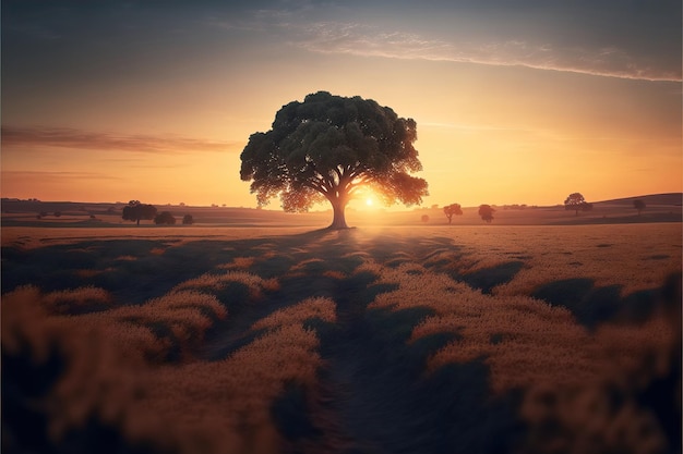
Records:
M331 229L346 229L345 209L361 188L386 205L419 205L428 195L417 125L371 99L327 91L292 101L276 114L272 130L254 133L241 154L240 176L251 181L259 206L279 196L285 211L307 211L325 199Z

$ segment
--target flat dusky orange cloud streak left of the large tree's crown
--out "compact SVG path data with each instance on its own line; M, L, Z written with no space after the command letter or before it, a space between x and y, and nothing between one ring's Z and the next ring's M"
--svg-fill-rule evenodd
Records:
M243 144L215 142L176 135L111 134L69 127L2 126L2 147L57 147L86 150L181 154L188 151L237 151Z

